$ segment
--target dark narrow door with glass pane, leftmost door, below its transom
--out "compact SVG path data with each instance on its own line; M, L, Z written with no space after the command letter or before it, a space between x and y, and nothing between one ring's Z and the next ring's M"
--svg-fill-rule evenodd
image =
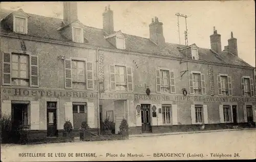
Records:
M54 137L57 135L57 118L56 109L47 109L47 136Z

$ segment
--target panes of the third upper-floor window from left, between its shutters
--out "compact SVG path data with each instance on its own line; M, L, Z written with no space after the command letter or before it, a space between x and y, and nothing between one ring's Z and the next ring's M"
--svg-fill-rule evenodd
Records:
M116 90L127 90L125 69L124 66L115 66Z

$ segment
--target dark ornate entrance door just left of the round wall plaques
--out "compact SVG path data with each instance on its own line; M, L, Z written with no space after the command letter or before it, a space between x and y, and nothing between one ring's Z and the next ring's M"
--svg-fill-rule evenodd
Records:
M141 105L141 126L142 133L151 133L150 105Z

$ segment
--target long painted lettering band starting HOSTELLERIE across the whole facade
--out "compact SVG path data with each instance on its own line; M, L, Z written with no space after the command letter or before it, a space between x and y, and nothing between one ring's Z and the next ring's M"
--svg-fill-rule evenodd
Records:
M67 90L40 90L1 88L4 96L31 96L31 97L57 97L57 98L94 98L96 92L67 91ZM214 96L183 96L181 95L146 95L131 93L100 93L100 99L130 99L130 100L152 100L152 101L176 101L176 102L210 102L210 103L256 103L256 98L246 97L214 97Z

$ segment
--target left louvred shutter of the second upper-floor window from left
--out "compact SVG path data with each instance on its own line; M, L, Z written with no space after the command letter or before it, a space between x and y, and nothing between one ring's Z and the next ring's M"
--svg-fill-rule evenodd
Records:
M65 88L72 88L72 64L71 59L65 59Z

